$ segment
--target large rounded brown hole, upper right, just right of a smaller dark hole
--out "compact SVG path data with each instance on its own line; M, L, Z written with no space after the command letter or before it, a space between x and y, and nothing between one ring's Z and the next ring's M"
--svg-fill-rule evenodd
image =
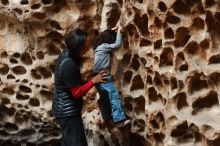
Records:
M176 30L176 39L174 40L175 47L183 47L190 39L190 31L186 27L179 27Z

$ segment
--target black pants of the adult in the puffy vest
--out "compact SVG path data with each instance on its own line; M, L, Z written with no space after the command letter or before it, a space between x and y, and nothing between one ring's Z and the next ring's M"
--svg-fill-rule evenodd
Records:
M81 115L57 118L62 133L61 146L87 146Z

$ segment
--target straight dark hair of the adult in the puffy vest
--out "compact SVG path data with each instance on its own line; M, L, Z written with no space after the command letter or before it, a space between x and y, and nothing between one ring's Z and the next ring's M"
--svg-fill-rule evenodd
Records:
M73 55L78 55L85 46L88 34L81 29L75 29L65 35L65 44L67 49Z

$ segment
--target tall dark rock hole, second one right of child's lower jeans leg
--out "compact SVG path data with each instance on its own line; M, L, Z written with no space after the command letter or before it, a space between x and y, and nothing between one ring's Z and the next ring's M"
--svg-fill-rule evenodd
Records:
M145 99L143 96L139 96L134 99L135 108L134 112L136 114L145 113Z

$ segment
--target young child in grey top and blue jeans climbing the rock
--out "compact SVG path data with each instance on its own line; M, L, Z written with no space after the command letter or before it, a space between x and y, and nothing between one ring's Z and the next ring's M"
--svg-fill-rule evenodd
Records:
M118 29L117 34L114 31L116 29ZM106 70L108 73L106 82L97 84L96 89L100 94L100 100L103 101L105 98L109 100L112 119L117 127L124 126L130 122L130 120L126 118L125 112L122 109L119 92L114 85L111 76L112 52L116 48L119 48L122 43L122 35L120 31L121 27L117 26L112 30L107 29L99 34L94 46L95 60L93 66L94 74L99 73L101 70ZM101 102L101 104L106 104L104 102ZM102 112L103 110L107 110L109 105L108 107L105 105L102 105L101 107L106 108L101 109Z

